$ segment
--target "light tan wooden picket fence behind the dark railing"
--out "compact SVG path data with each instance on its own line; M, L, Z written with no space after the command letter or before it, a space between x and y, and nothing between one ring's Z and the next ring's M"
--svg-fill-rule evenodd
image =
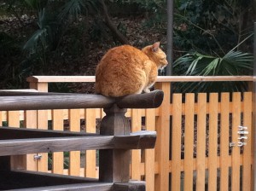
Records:
M32 89L48 91L49 83L93 83L95 78L37 76L27 81ZM253 190L252 92L171 95L172 82L192 81L253 82L253 77L158 78L155 87L165 92L161 107L126 113L132 131L157 131L154 149L131 152L131 178L146 180L147 191ZM7 111L1 113L0 121L14 127L96 132L103 116L101 109L83 108ZM248 134L238 134L243 131L239 126L246 126ZM246 145L239 147L242 142ZM38 159L34 155L15 158L15 165L32 171L98 176L97 151L37 153Z

